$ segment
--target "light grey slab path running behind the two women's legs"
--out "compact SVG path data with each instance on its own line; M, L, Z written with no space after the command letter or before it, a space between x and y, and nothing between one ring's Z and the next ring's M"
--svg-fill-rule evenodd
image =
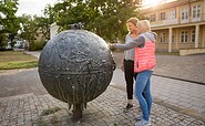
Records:
M125 81L122 76L123 72L117 69L111 85L124 90ZM154 102L205 117L205 85L153 75L151 88Z

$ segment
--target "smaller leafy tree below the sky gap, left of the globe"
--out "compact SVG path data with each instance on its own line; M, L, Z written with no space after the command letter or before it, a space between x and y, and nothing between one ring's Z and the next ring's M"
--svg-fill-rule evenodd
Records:
M50 24L49 19L43 17L30 17L23 14L20 17L22 30L20 36L23 40L28 40L30 45L30 51L42 50L45 41L49 40ZM41 40L37 42L37 38Z

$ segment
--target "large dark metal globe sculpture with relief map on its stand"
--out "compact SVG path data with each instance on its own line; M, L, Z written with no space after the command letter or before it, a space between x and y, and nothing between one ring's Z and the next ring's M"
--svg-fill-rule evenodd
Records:
M73 24L50 40L41 52L39 75L49 94L82 117L86 103L109 86L115 63L106 42Z

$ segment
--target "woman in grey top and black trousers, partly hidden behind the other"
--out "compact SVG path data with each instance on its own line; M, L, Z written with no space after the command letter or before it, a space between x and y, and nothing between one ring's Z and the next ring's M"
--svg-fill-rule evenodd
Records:
M129 43L136 39L137 31L136 31L136 24L139 22L139 19L136 18L130 18L126 21L126 28L129 30L129 33L125 38L125 43ZM127 104L125 107L125 111L129 111L133 107L133 83L134 83L134 49L124 51L124 59L121 66L121 70L124 71L124 77L126 82L126 94L127 94Z

